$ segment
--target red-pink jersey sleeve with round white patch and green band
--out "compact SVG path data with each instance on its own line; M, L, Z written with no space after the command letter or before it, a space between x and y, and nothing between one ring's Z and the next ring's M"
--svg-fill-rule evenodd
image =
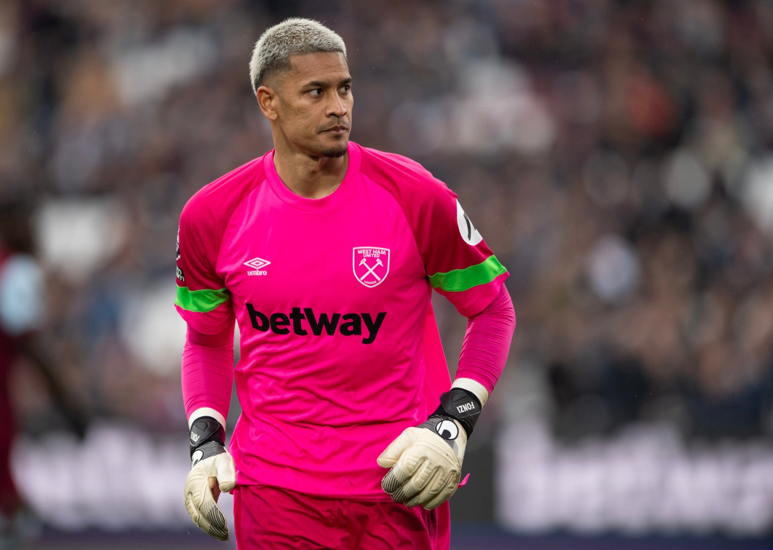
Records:
M472 317L491 304L509 273L451 189L434 180L424 201L417 242L429 281L459 313Z

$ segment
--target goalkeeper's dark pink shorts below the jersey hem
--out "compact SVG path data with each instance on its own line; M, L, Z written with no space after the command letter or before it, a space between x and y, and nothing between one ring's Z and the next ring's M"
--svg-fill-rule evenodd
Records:
M435 510L391 501L315 497L266 485L233 491L237 548L426 548L448 550L448 502Z

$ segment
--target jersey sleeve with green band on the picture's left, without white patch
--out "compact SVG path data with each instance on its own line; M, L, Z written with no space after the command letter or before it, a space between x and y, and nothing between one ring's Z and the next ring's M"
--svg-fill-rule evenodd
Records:
M177 297L175 307L194 330L217 334L233 324L233 308L225 281L216 273L220 248L213 215L190 201L177 232Z

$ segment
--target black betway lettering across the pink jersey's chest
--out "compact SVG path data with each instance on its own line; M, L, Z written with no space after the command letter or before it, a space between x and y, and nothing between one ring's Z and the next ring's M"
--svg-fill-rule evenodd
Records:
M293 307L289 314L273 313L267 315L257 311L252 304L246 305L253 328L257 328L259 331L290 334L292 326L292 331L298 336L307 335L306 328L312 331L315 336L322 336L323 332L332 336L336 330L343 336L362 336L364 325L367 336L363 338L363 344L372 344L376 340L376 334L379 333L381 324L386 318L386 311L376 314L376 319L373 319L369 313L321 313L317 317L311 307Z

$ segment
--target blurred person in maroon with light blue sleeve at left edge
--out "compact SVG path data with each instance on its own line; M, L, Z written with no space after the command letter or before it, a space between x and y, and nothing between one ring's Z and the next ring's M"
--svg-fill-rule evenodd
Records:
M31 210L22 201L0 202L0 548L19 533L26 507L11 472L17 423L11 398L12 367L19 358L36 366L54 402L82 439L86 420L56 375L36 332L46 322L46 288L35 258Z

